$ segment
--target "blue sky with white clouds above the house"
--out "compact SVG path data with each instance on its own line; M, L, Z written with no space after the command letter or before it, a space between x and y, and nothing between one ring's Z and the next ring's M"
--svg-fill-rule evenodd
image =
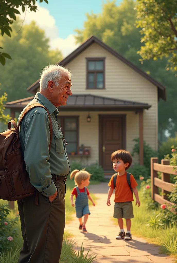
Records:
M101 13L102 4L106 0L48 0L48 4L44 1L40 4L38 2L38 11L26 12L24 24L36 21L36 24L45 30L46 37L50 38L51 49L58 48L66 57L78 47L78 44L75 44L74 29L83 28L86 13ZM119 5L120 2L122 0L117 0L116 4ZM24 13L21 14L23 19Z

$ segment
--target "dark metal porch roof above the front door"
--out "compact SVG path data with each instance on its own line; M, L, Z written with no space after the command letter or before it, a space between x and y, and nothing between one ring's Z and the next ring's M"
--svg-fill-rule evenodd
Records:
M15 100L7 102L5 107L9 109L22 110L26 105L34 98L28 97L25 99ZM90 94L78 94L68 97L67 104L60 106L60 111L68 110L83 110L83 111L95 111L95 110L133 110L140 111L142 109L149 109L151 105L147 103L134 102L130 100L112 99L107 97L101 97Z

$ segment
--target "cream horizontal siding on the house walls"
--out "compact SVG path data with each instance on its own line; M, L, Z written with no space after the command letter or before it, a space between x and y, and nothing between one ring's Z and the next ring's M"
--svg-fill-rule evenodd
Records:
M105 90L86 89L87 57L105 57ZM96 43L84 50L75 59L68 63L66 67L69 68L73 74L73 94L93 94L150 104L152 107L149 110L144 110L144 140L149 143L153 149L157 149L158 90L154 84ZM105 114L114 113L121 114L122 112L105 112ZM78 112L83 123L86 121L87 114L87 112ZM100 114L104 113L100 112ZM67 115L69 114L67 113ZM88 144L86 146L89 146L89 144L94 141L93 145L95 146L94 151L92 150L92 158L95 158L96 161L98 160L98 147L96 146L98 145L98 113L91 113L91 117L91 123L86 123L86 125L92 127L91 132L88 132L86 129L87 126L80 122L79 138L80 143L84 143L85 145ZM134 145L132 139L139 137L139 119L138 114L135 114L135 112L127 112L126 130L127 150L131 150ZM97 136L95 136L95 134L97 134ZM94 161L92 158L91 161Z

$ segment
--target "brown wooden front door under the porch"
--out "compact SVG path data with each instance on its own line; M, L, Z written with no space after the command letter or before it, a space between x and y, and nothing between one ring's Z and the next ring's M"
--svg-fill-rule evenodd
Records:
M100 115L100 165L112 170L111 154L125 149L125 115Z

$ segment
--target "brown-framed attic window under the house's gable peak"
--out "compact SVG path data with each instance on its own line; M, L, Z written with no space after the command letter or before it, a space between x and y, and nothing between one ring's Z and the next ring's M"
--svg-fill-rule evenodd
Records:
M105 88L105 58L87 59L87 89Z

